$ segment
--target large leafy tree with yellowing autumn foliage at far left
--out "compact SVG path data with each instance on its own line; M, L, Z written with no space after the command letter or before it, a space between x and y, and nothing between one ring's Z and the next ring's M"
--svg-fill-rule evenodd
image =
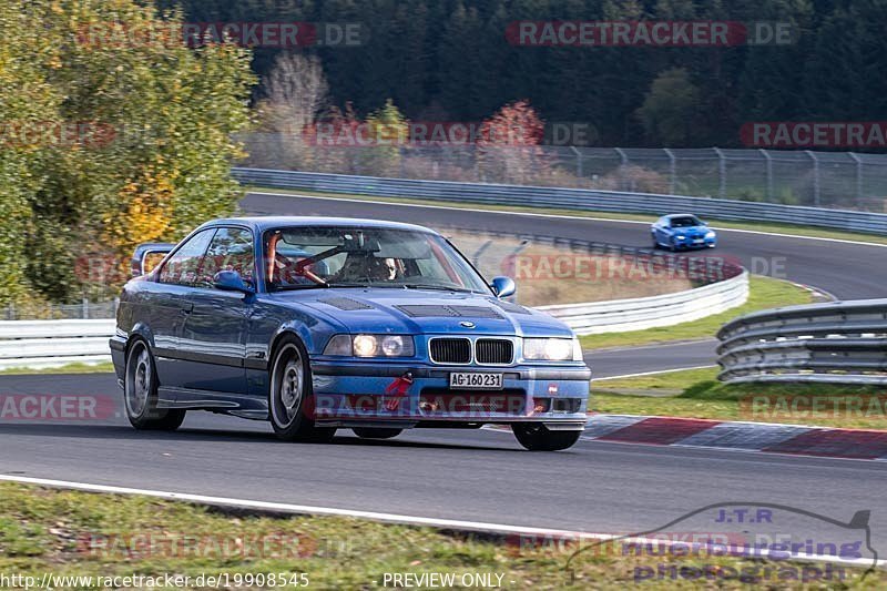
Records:
M180 238L234 208L231 165L243 152L233 136L249 123L255 83L248 51L186 47L180 12L133 0L12 0L0 18L16 31L0 48L3 121L53 130L0 156L2 223L14 226L1 256L18 286L0 302L29 288L108 297L119 284L78 276L79 257L122 267L137 243Z

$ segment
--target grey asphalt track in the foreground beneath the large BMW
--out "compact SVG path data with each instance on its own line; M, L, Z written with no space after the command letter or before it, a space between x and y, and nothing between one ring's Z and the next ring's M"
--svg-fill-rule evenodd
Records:
M109 374L0 376L4 394L121 398ZM118 405L120 406L120 405ZM523 451L510 432L415 430L284 444L265 422L191 414L174 434L125 418L0 426L0 473L511 526L632 533L713 502L775 502L849 520L887 552L884 462L580 441ZM834 528L805 522L803 536ZM785 524L779 524L785 531Z

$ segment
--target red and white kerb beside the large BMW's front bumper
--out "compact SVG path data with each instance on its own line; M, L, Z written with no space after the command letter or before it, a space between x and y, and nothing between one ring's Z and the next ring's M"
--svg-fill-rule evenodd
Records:
M595 414L582 439L887 461L887 431L864 429Z

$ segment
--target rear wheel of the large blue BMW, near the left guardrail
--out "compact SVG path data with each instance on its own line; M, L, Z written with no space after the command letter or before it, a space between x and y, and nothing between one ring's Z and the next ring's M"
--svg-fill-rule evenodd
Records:
M174 431L185 420L185 410L157 408L157 368L151 347L136 338L126 351L123 406L130 425L140 431Z

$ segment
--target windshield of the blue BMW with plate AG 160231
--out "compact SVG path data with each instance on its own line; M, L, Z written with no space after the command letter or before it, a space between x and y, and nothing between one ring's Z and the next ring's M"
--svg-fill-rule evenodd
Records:
M265 235L268 291L396 287L490 294L446 240L385 227L284 227Z

